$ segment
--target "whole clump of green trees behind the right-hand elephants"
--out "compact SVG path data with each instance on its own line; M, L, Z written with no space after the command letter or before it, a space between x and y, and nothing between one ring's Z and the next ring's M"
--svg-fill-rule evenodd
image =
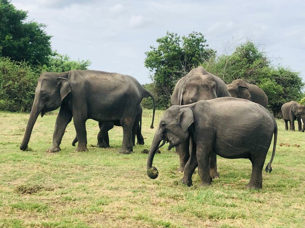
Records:
M145 53L145 67L151 72L153 81L145 88L155 94L159 109L170 105L170 95L176 82L199 65L226 84L246 78L258 85L267 94L268 108L274 114L280 112L283 103L302 98L304 83L300 72L289 67L274 66L267 53L251 40L237 46L232 53L221 55L207 48L202 33L192 32L181 39L177 33L167 32L166 36L156 41L158 47L151 46L151 50ZM143 104L144 107L151 105L145 99Z

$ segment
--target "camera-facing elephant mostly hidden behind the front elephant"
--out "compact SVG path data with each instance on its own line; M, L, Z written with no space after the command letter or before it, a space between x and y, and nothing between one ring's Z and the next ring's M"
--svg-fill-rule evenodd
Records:
M181 78L171 96L171 105L188 105L199 100L210 100L217 97L230 97L227 86L220 78L207 72L202 66L192 69ZM186 140L176 147L176 153L180 157L178 171L183 172L187 163L192 141ZM219 177L217 172L216 154L212 152L210 157L210 172L213 178Z

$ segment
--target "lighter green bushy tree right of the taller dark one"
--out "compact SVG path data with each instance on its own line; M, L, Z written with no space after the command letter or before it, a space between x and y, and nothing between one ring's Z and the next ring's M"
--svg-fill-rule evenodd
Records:
M226 84L246 78L258 85L268 96L268 107L275 115L281 106L302 97L304 83L300 72L288 67L274 67L264 50L251 40L242 43L231 54L222 54L203 63L207 71L221 77Z

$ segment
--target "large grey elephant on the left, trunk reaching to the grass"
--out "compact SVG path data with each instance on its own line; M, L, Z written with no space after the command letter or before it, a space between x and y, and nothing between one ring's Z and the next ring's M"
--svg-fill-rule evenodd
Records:
M155 99L133 77L124 74L93 70L72 70L64 73L42 73L38 78L35 97L24 133L21 150L26 150L33 126L41 113L60 107L53 133L53 144L47 152L60 151L60 143L66 126L72 117L77 134L76 151L86 151L87 119L99 122L119 120L123 127L123 141L119 153L132 151L132 128L136 110L143 97L151 97L154 104L152 124L155 115Z

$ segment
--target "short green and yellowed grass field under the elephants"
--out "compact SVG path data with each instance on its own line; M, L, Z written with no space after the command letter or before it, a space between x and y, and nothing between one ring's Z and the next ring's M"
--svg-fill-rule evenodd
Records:
M165 146L153 162L159 177L149 179L141 151L149 149L163 111L156 112L154 129L152 111L143 111L145 145L129 155L117 154L121 127L109 132L111 148L92 147L98 133L93 120L86 124L89 151L74 152L70 123L62 150L46 153L56 114L38 117L29 150L20 151L29 115L0 112L0 227L304 227L305 133L285 132L281 120L273 171L263 172L257 191L245 189L251 174L246 159L218 157L221 176L211 187L197 187L197 172L194 186L182 185L178 155Z

